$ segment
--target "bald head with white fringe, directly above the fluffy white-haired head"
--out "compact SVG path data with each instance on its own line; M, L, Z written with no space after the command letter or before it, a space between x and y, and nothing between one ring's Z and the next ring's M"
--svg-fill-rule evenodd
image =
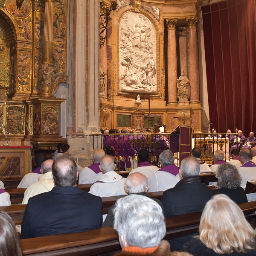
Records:
M128 194L147 192L149 187L147 177L140 172L129 175L124 186Z

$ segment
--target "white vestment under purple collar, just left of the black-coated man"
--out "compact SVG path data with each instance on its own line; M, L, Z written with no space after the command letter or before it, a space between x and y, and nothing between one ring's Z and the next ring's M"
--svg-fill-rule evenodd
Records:
M169 172L157 171L148 179L148 192L166 191L173 188L180 181L180 175Z

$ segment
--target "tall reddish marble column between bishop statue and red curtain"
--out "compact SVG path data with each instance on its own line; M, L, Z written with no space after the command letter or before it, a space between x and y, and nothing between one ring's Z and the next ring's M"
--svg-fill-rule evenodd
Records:
M190 105L200 104L199 102L199 70L198 70L198 43L197 25L198 18L186 19L189 27L189 82L190 82Z

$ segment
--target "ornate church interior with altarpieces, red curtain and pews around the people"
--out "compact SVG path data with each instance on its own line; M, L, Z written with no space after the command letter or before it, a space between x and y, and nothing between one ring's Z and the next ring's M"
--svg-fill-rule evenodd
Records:
M17 185L38 167L35 156L45 153L49 160L57 151L68 152L83 170L94 162L95 149L106 150L104 131L119 134L112 148L116 168L127 171L118 172L120 179L142 162L137 162L142 147L157 163L154 167L160 167L166 149L179 168L194 147L204 149L201 164L236 161L240 154L232 150L246 147L255 149L252 158L255 17L256 0L0 0L0 180L14 204L0 210L18 228L25 210L18 204L26 189ZM126 150L122 134L130 130L145 134L143 144L131 135L131 150L121 156ZM159 131L166 136L160 138ZM158 144L158 152L153 147L157 139L169 141L162 151ZM60 143L70 147L59 151ZM218 151L224 152L222 160ZM256 168L252 161L250 167ZM215 171L201 174L200 183L216 189ZM255 179L244 184L246 194L255 194ZM89 192L92 184L79 183L79 189ZM163 191L156 191L149 190L149 197L161 199ZM252 198L238 204L255 228ZM102 197L104 215L116 199ZM196 232L201 211L176 218L165 214L165 239ZM97 230L82 238L21 239L22 253L90 256L120 250L113 227Z

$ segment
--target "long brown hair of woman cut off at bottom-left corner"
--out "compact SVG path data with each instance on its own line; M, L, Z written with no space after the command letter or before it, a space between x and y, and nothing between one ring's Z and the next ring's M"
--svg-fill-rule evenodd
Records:
M15 224L5 212L0 212L0 255L22 256Z

